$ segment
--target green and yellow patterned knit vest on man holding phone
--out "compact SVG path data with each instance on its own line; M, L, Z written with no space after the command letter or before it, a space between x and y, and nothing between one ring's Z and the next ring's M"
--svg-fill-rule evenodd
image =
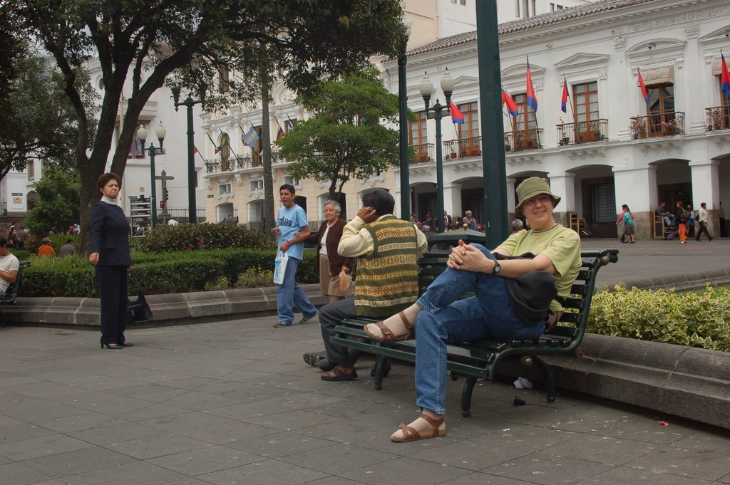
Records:
M358 317L390 317L418 298L417 229L393 216L365 228L374 250L358 257L356 311Z

